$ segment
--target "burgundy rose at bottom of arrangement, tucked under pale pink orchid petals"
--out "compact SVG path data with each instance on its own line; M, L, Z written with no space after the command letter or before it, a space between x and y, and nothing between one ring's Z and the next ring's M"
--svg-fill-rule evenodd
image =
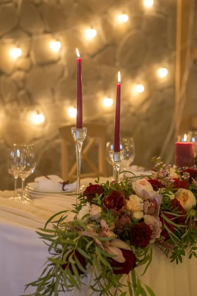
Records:
M113 269L114 274L129 274L130 271L136 267L136 257L130 250L120 249L123 253L123 257L125 258L124 263L119 263L114 259L110 260L110 265ZM116 269L118 268L118 269Z

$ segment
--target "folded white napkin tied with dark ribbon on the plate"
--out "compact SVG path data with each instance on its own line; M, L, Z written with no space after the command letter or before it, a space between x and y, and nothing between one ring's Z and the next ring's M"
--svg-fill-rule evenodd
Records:
M68 184L56 175L41 176L28 184L33 190L41 192L72 192L76 190L76 182Z

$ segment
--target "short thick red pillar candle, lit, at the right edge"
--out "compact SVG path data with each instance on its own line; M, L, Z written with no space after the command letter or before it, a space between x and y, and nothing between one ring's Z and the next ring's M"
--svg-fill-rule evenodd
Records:
M187 136L186 141L187 141ZM193 167L195 156L195 145L192 142L175 143L175 165L177 167Z

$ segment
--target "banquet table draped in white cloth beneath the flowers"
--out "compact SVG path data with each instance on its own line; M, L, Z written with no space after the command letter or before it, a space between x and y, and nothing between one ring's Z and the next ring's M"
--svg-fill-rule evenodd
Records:
M101 182L106 180L100 178ZM94 179L81 181L83 185L89 182ZM11 193L0 191L0 296L29 295L35 291L30 287L24 293L24 286L37 279L48 256L47 246L35 229L43 227L53 214L71 210L76 200L75 195L44 195L36 196L32 204L26 205L9 200ZM72 218L71 215L67 219ZM136 268L136 272L140 276L143 268ZM197 296L197 259L185 257L182 264L176 265L153 246L152 263L140 279L156 296ZM88 296L85 286L81 292L66 295Z

